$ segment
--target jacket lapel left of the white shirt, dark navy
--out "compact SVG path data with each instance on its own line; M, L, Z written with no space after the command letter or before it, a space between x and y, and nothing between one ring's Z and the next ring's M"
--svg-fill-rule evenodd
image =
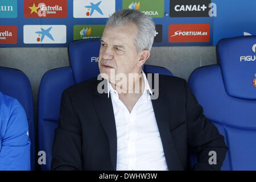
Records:
M107 80L104 80L107 81ZM97 85L100 81L97 81ZM97 88L96 85L96 88ZM108 93L98 93L96 89L96 97L93 99L94 106L96 107L97 114L100 118L102 126L109 138L110 159L113 169L117 168L117 131L115 127L114 111L112 101L108 98Z

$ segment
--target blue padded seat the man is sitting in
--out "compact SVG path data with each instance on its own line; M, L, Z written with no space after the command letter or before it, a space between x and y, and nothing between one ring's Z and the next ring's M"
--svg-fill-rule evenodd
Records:
M51 169L52 146L55 129L59 120L61 94L71 85L96 77L98 69L98 53L100 40L76 40L69 44L68 53L70 67L52 69L42 78L38 96L38 143L39 151L46 152L46 164L42 170ZM165 68L145 65L144 72L171 75Z

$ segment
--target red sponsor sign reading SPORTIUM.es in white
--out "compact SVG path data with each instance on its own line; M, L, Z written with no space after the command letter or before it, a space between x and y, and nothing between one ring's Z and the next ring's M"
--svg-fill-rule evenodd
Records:
M170 24L169 42L209 42L210 24Z

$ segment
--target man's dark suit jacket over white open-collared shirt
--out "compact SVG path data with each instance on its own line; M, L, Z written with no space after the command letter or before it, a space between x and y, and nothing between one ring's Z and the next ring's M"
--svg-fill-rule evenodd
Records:
M52 170L116 170L117 131L111 95L97 92L99 82L96 77L64 90ZM189 169L188 150L197 155L193 169L221 168L228 149L224 137L205 118L185 80L159 75L159 97L152 105L169 170ZM216 151L217 164L209 164L209 151Z

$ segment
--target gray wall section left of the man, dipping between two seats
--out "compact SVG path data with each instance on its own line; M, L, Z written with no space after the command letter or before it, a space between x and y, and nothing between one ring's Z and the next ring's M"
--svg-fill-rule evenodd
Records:
M0 67L19 69L28 76L35 108L44 73L68 65L67 48L0 48Z

